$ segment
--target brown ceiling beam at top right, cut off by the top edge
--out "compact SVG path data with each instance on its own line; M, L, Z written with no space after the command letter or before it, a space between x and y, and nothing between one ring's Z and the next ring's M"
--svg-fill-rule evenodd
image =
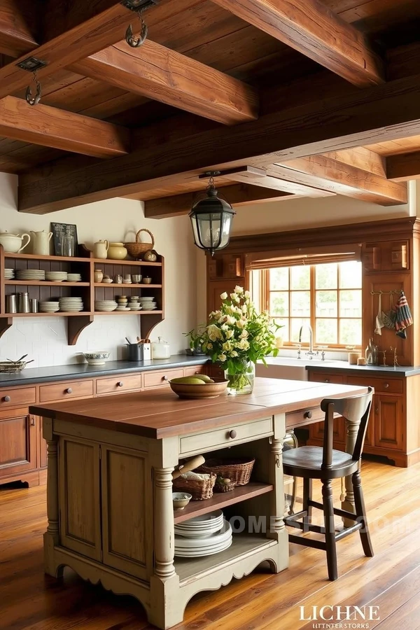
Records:
M356 28L318 0L213 0L353 85L384 83L381 57Z

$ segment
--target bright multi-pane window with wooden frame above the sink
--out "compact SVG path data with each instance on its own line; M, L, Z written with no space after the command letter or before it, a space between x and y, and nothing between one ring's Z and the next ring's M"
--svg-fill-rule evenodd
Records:
M362 265L357 260L316 265L274 265L251 271L258 308L283 326L285 344L299 342L302 325L314 330L314 345L361 346ZM308 342L307 330L302 340Z

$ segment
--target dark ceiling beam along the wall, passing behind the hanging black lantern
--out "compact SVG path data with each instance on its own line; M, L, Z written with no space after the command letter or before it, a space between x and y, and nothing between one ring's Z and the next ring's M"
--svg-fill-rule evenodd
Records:
M280 190L269 190L245 183L224 186L218 190L221 197L233 207L246 206L256 202L274 202L296 198L294 195L283 193ZM188 214L197 198L197 193L185 193L174 195L174 197L148 200L144 202L144 216L146 218L168 218L169 216Z

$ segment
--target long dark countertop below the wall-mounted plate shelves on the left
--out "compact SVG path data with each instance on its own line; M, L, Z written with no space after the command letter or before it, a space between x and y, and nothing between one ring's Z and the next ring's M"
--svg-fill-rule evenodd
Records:
M0 374L0 388L13 385L33 385L46 381L65 381L66 379L83 379L99 376L111 376L122 372L146 372L163 370L165 367L188 367L203 365L207 356L187 356L174 354L168 359L152 359L150 361L107 361L105 365L87 365L87 363L71 363L70 365L54 365L52 367L27 367L20 374Z

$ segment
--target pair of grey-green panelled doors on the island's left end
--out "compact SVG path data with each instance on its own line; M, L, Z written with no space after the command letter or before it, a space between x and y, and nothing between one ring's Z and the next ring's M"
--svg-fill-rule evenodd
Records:
M62 547L146 580L153 563L147 471L147 452L60 436Z

